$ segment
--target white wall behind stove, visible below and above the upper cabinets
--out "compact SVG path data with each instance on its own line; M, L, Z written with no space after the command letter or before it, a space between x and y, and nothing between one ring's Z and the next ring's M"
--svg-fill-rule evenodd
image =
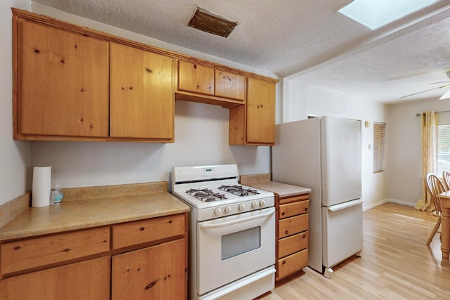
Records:
M47 6L32 4L32 10L94 30L274 77L274 74L262 70L206 56ZM31 164L32 167L51 166L52 185L59 180L62 188L169 181L172 167L186 165L236 163L240 174L270 171L269 147L230 146L228 131L229 110L215 105L176 101L175 143L32 142Z

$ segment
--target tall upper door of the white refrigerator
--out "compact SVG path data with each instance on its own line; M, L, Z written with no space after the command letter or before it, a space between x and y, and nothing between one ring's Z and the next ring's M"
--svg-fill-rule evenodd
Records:
M322 205L361 198L361 121L321 118Z

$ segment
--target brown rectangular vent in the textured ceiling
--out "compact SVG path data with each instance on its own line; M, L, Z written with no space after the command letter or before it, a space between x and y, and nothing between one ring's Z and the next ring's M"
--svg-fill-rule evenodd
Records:
M194 14L188 22L188 26L190 27L217 34L221 37L228 37L237 25L238 22L233 22L220 15L214 15L214 13L210 13L198 6L195 8Z

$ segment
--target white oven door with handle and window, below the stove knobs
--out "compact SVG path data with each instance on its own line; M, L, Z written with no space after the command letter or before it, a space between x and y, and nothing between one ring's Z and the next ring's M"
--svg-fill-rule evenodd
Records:
M197 291L213 289L275 263L275 208L197 223Z

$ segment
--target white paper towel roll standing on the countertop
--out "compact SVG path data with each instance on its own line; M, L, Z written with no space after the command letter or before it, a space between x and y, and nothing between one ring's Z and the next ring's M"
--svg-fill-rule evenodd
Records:
M51 167L33 168L32 207L48 207L51 193Z

